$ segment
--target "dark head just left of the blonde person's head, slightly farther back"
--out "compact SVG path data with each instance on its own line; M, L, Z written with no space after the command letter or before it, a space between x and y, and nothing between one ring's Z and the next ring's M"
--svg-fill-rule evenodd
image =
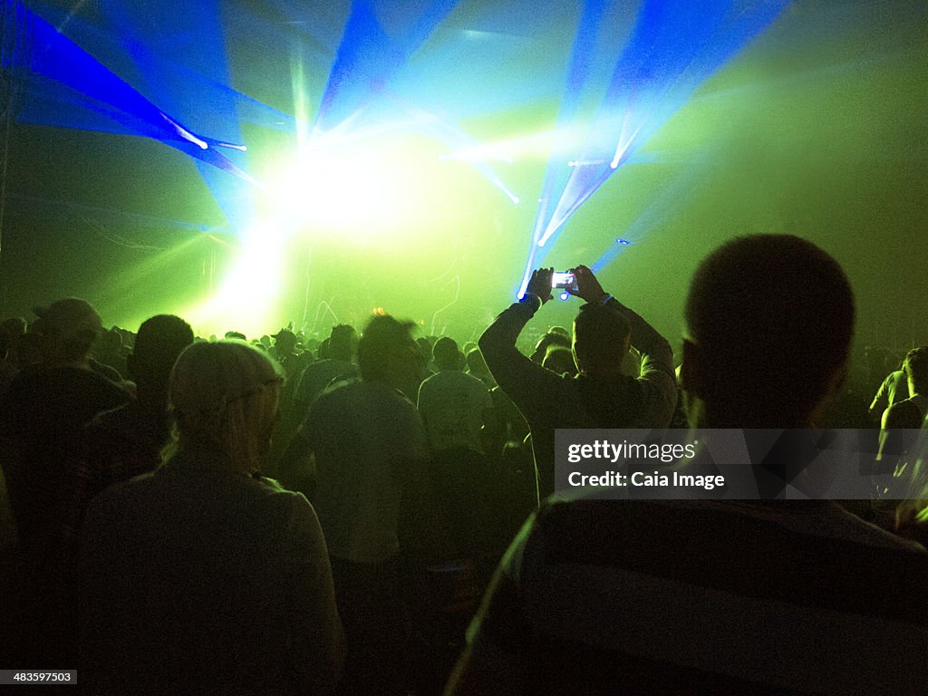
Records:
M142 322L132 354L126 358L129 376L138 385L140 396L166 395L171 368L192 342L193 329L179 316L158 315Z

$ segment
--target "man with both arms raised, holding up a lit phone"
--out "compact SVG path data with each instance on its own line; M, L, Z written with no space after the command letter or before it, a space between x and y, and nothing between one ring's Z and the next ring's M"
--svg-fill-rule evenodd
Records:
M574 295L586 301L574 319L573 378L545 369L516 349L522 328L551 299L551 268L535 270L518 303L496 317L480 350L503 392L532 432L540 498L554 493L554 431L558 428L665 428L677 404L670 344L643 318L602 290L586 266L574 269ZM622 372L629 347L638 375Z

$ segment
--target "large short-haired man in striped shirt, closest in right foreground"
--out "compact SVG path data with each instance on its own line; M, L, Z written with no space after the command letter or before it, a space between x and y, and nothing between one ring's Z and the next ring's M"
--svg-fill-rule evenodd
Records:
M700 425L805 428L846 373L841 267L790 236L702 262ZM549 499L504 557L449 693L917 694L928 554L828 500Z

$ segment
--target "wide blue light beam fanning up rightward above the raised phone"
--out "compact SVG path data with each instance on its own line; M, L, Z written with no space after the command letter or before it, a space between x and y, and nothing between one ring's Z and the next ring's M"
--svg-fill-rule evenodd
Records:
M698 4L645 0L614 64L585 144L572 159L573 166L553 206L547 185L563 169L560 160L548 162L544 203L535 219L530 259L537 256L538 248L549 249L586 200L661 129L706 77L763 32L788 4L788 0ZM582 22L581 30L578 44L588 38L589 30ZM573 81L568 83L566 99L572 104L577 99L577 86Z

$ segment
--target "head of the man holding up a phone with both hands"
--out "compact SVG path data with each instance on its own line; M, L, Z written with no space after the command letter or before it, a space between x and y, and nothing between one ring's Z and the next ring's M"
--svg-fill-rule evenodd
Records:
M581 374L618 374L628 353L631 325L610 304L584 304L574 319L574 360Z

